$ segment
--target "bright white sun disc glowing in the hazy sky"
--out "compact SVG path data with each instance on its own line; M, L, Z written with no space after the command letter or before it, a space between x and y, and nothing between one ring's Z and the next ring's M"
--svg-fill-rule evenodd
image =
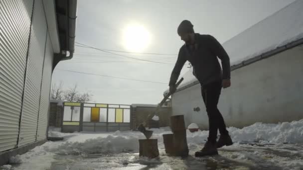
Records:
M151 43L151 33L141 24L129 24L123 31L123 45L128 51L142 52Z

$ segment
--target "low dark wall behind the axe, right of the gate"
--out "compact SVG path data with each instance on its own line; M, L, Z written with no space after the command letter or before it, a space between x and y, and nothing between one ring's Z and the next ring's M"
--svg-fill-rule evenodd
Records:
M146 121L149 114L154 113L155 107L132 107L132 129L136 130L140 123ZM159 127L170 125L171 107L159 109Z

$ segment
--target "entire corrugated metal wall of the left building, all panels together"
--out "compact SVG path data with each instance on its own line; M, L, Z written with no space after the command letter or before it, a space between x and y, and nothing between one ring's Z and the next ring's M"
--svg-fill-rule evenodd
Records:
M0 154L46 140L53 50L42 0L0 1Z

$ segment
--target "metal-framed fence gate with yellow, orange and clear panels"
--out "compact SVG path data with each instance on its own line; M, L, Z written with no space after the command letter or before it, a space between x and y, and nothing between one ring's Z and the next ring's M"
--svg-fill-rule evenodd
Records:
M112 132L130 129L130 105L64 102L62 132Z

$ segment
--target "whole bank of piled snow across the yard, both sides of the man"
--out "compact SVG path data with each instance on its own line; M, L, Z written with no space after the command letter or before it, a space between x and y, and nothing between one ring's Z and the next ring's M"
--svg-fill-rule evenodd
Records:
M196 124L191 124L188 128L197 128ZM158 140L158 148L163 149L163 134L171 133L170 128L151 129L153 131L152 139ZM284 122L279 124L255 123L243 129L234 127L228 128L235 143L249 141L259 144L303 144L303 120ZM67 134L61 133L61 136ZM104 134L73 134L62 142L59 147L50 150L59 155L86 155L100 153L124 153L138 152L139 139L145 139L140 132L112 132ZM219 134L218 134L219 135ZM195 148L202 145L207 140L208 131L198 131L190 133L187 130L187 143L189 148Z

